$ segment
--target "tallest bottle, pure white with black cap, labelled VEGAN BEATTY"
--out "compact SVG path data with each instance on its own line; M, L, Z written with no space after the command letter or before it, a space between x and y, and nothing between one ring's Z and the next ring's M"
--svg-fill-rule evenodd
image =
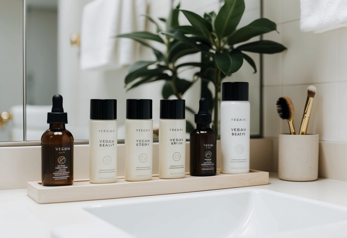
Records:
M222 173L249 172L250 119L248 83L223 83L220 105Z

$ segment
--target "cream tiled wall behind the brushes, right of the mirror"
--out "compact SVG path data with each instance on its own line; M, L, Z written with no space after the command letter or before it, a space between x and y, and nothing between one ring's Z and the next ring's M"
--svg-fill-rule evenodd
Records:
M263 127L264 136L274 138L273 170L276 171L278 134L289 133L287 121L281 120L276 111L276 101L281 96L289 96L293 101L294 126L298 131L307 87L316 86L308 133L320 135L320 150L327 143L347 142L347 28L320 34L302 32L300 0L263 0L263 13L277 23L280 33L265 34L264 39L288 48L280 54L264 55ZM342 156L336 153L329 156ZM322 156L320 153L320 162L330 164ZM325 168L320 169L320 175L326 177Z

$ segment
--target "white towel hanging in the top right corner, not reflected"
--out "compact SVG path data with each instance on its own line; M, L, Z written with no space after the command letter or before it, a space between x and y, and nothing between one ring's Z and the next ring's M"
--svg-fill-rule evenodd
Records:
M321 33L347 26L347 0L301 0L300 28Z

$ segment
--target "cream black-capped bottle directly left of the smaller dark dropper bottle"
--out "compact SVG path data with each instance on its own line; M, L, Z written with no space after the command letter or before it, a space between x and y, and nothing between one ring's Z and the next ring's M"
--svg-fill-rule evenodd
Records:
M185 164L185 101L160 100L159 178L184 178Z

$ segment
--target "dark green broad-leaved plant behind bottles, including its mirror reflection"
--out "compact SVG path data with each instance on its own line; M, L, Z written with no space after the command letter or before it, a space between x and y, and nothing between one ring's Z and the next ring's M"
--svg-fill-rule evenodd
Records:
M239 45L239 43L248 41L252 37L276 31L276 24L266 18L257 19L247 26L236 29L244 10L244 0L226 0L217 14L210 12L201 17L194 12L179 9L178 5L170 11L167 20L160 18L160 20L166 21L167 29L161 29L159 24L150 16L146 16L156 25L156 34L134 32L118 35L118 37L131 38L152 48L156 56L155 61L138 61L129 67L129 73L125 78L125 85L128 90L143 83L166 80L162 88L164 99L171 95L181 99L188 88L198 78L201 78L201 97L207 97L210 102L213 102L210 103L210 111L214 112L213 129L218 132L221 80L239 70L244 59L253 67L254 73L257 70L252 58L244 51L272 54L286 49L282 44L268 40ZM184 14L191 25L179 25L179 12ZM144 39L164 44L166 52L162 53L153 48ZM201 52L201 62L176 64L179 58L197 52ZM178 69L184 66L200 67L200 71L194 75L195 77L192 77L191 81L182 79L178 75ZM136 80L135 83L134 80ZM214 85L214 97L208 88L210 82ZM189 108L188 110L192 111Z

